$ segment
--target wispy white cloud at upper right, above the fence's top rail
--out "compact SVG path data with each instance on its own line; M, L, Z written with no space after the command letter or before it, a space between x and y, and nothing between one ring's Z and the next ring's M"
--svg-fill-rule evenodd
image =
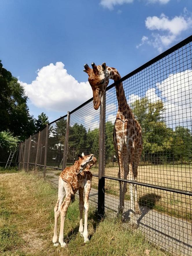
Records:
M159 52L162 52L163 48L168 47L173 43L178 36L182 34L182 32L192 27L192 18L191 14L189 14L187 9L184 8L183 15L175 16L172 19L169 19L165 14L161 14L160 17L149 16L145 20L145 26L153 32L150 38L143 36L141 43L136 45L136 48L147 43L148 45L152 45L154 48L158 49Z

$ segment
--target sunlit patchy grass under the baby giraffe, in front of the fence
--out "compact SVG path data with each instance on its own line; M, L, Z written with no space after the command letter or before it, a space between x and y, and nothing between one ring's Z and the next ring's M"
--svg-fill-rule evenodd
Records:
M78 233L77 200L69 206L64 225L67 248L53 247L57 190L43 179L17 172L0 178L0 255L168 255L149 244L139 231L123 229L118 220L97 222L88 216L90 242ZM150 252L149 252L150 251ZM149 252L149 254L147 254Z

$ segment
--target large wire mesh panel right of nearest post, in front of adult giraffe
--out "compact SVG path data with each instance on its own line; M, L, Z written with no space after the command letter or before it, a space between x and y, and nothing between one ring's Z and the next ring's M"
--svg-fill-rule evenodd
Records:
M106 91L106 215L122 213L125 217L128 213L135 224L142 218L143 204L147 211L153 206L145 218L158 232L145 226L142 230L173 255L192 253L192 205L187 196L192 187L191 48L192 43L187 43ZM138 123L143 137L141 156ZM128 185L123 179L132 183ZM187 192L178 194L177 189ZM169 234L165 232L163 238L158 226Z

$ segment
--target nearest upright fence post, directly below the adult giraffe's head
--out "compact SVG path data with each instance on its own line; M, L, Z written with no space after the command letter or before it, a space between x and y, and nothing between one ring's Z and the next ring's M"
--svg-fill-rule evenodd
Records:
M105 93L101 97L99 120L99 181L98 181L98 217L101 220L105 216Z

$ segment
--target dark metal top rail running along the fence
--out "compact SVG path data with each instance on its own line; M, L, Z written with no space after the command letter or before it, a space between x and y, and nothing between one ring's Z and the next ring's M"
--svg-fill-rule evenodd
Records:
M192 41L192 35L185 38L184 40L182 40L180 43L174 45L173 47L169 48L168 50L164 51L163 53L159 54L158 56L156 56L155 58L149 60L148 62L146 62L145 64L143 64L142 66L138 67L137 69L131 71L130 73L128 73L127 75L123 76L121 79L119 79L118 81L112 83L111 85L107 86L106 88L106 91L110 90L112 87L114 87L115 85L119 84L120 82L123 82L124 80L130 78L132 75L135 75L136 73L140 72L141 70L145 69L146 67L149 67L150 65L154 64L155 62L157 62L158 60L166 57L167 55L171 54L172 52L178 50L179 48L183 47L184 45L187 45L188 43L190 43ZM88 104L89 102L91 102L93 100L93 97L89 100L87 100L86 102L84 102L83 104L81 104L80 106L78 106L77 108L73 109L72 111L69 111L69 114L72 114L74 113L76 110L82 108L83 106L85 106L86 104ZM51 123L49 123L48 125L50 124L53 124L57 121L59 121L60 119L62 118L65 118L67 117L67 115L64 115L62 117L59 117L58 119L52 121ZM46 125L47 126L47 125ZM46 126L43 128L45 129ZM43 130L41 129L40 132ZM39 132L39 131L38 131ZM36 133L38 132L35 132L33 135L35 135ZM32 135L32 136L33 136ZM30 136L29 136L30 137ZM28 138L29 138L28 137ZM27 138L27 139L28 139Z

